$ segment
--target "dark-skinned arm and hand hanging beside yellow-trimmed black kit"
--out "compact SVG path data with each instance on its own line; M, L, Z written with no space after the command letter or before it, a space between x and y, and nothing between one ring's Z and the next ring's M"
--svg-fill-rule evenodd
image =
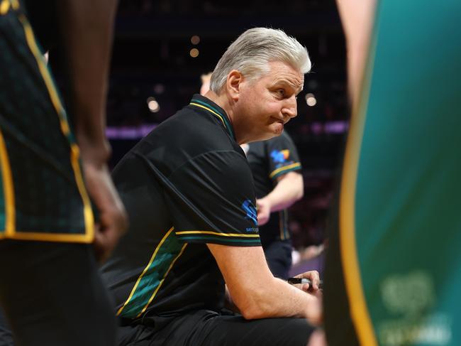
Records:
M96 249L109 254L126 229L126 212L109 176L106 94L111 55L114 0L56 1L61 43L70 78L70 110L89 195L99 210Z

